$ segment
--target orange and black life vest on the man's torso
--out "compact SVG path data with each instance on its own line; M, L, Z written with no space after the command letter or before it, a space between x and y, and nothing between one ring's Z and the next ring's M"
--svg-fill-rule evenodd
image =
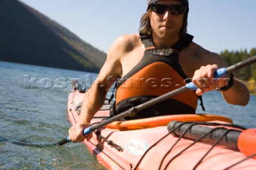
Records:
M171 49L156 49L151 38L141 37L141 40L146 48L144 56L129 73L117 81L115 114L190 82L179 64L179 53L192 42L193 36L186 34ZM126 119L195 113L197 100L195 92L188 90Z

